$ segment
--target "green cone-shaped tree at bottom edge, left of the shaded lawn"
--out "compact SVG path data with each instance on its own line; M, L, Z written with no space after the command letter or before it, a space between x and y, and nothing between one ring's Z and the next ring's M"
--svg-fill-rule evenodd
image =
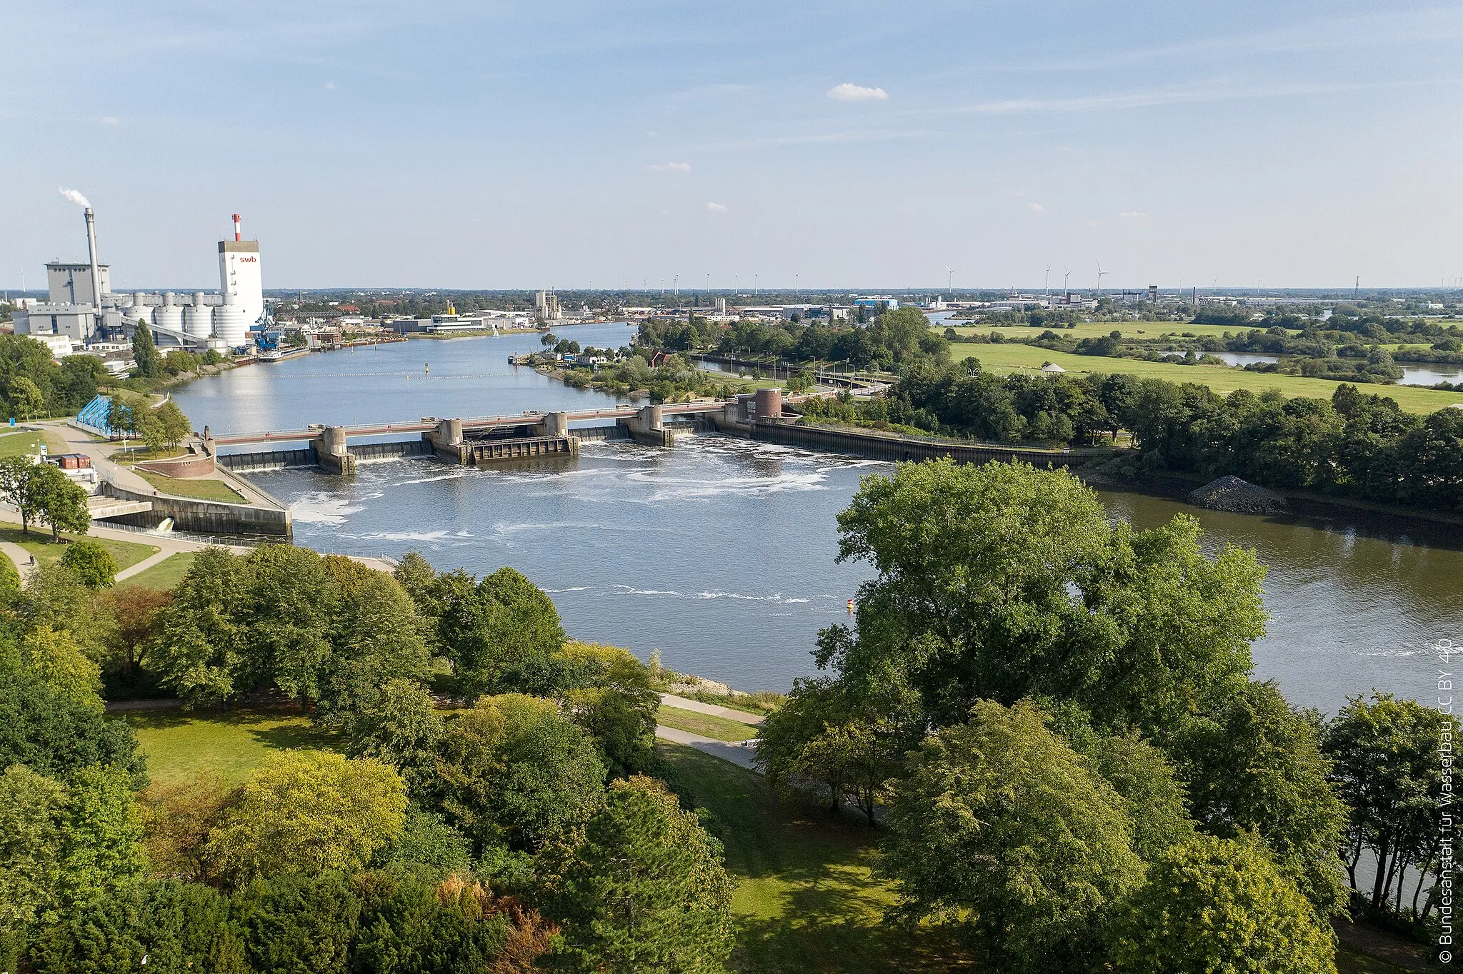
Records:
M572 971L721 971L732 880L721 844L654 778L610 784L582 838L546 856L550 916Z

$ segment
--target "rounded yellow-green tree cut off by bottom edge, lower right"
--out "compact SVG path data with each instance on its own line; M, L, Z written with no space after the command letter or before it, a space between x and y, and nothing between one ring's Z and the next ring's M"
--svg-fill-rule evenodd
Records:
M1150 867L1119 924L1112 970L1334 974L1334 955L1330 927L1264 847L1195 835Z

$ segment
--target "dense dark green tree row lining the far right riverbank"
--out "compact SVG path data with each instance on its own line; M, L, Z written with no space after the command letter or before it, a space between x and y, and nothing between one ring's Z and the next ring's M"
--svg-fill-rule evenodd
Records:
M909 426L986 442L1088 446L1132 433L1134 468L1235 474L1276 490L1463 510L1463 409L1404 412L1342 385L1330 401L1129 374L996 376L916 364L868 402L813 399L811 420Z

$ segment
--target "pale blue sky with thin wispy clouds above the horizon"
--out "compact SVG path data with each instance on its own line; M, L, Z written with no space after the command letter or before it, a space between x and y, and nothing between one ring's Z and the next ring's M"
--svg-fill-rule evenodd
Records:
M10 0L0 285L1463 275L1463 6ZM954 269L949 275L947 269Z

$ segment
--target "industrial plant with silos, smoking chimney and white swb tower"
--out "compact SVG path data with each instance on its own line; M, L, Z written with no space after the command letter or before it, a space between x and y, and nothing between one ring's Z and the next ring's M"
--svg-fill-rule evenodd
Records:
M66 354L76 345L130 341L138 325L146 325L162 348L233 351L249 344L250 329L263 325L259 241L244 240L238 214L234 214L234 238L218 241L218 292L114 294L111 268L97 259L92 208L75 190L64 195L86 208L88 262L45 265L48 300L26 303L15 313L18 335L31 335Z

